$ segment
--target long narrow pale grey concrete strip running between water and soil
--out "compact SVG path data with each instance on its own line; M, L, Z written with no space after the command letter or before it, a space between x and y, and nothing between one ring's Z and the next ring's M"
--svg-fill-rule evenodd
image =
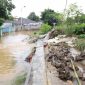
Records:
M31 63L33 73L32 85L47 85L44 56L43 40L38 40L36 52Z

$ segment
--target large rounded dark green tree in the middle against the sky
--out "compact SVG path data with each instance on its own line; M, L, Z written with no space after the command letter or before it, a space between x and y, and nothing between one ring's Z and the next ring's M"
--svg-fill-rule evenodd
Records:
M51 26L53 26L53 23L56 23L58 25L62 21L61 18L61 14L54 12L54 10L52 9L45 9L41 13L41 20L43 20L44 23L48 23Z

